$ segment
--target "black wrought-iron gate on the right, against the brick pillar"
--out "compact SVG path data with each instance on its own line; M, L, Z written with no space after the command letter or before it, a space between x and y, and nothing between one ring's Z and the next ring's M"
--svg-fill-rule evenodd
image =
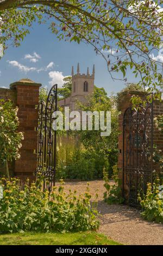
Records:
M123 117L123 197L137 205L137 193L153 181L153 102L127 108Z

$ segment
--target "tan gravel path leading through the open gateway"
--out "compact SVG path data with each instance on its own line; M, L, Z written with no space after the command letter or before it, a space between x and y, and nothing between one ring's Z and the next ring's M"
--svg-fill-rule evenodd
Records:
M103 202L105 188L102 180L89 182L92 199L98 190L99 232L126 245L163 245L163 225L142 220L140 211L127 205L107 205ZM66 182L65 190L83 193L87 182Z

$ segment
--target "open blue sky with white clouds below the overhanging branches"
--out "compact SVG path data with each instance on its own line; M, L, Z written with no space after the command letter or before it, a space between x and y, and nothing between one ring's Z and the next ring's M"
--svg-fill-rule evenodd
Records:
M30 78L48 88L55 82L61 86L62 78L71 75L72 65L76 72L78 62L81 73L86 72L87 66L91 72L95 64L95 84L104 87L108 94L124 87L123 81L112 81L105 60L96 56L92 46L59 41L47 25L37 24L30 29L20 47L9 46L0 60L0 87L9 87L21 78ZM117 74L117 78L120 77L121 74ZM127 80L136 81L130 71Z

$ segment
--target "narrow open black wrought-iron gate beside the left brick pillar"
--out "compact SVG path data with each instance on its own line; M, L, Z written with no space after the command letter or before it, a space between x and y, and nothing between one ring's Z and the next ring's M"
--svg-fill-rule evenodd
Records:
M43 176L43 190L55 185L57 131L53 130L54 111L57 111L57 84L48 93L46 102L39 103L36 175ZM46 182L46 180L48 182Z

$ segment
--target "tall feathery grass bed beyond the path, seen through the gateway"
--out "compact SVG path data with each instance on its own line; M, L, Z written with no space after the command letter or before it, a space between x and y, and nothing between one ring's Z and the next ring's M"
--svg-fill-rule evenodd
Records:
M102 178L103 159L86 150L77 137L62 135L57 150L57 179Z

